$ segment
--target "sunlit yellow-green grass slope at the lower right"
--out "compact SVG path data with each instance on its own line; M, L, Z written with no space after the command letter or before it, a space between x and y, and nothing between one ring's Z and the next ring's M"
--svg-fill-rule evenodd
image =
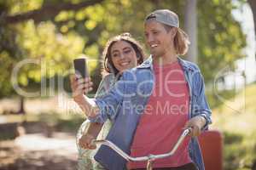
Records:
M224 133L224 169L252 169L256 162L256 84L212 110L212 128Z

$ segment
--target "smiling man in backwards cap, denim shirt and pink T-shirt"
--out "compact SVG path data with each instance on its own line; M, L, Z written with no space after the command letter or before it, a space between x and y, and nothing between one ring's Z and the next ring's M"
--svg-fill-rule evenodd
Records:
M201 72L195 64L180 59L189 40L179 28L177 14L156 10L146 17L145 37L151 56L142 65L125 71L109 94L95 100L74 97L92 122L114 120L107 139L131 156L162 154L172 149L183 127L192 127L177 152L157 160L158 169L204 169L196 136L211 123ZM73 81L73 92L91 88L90 79ZM145 162L126 162L102 146L95 156L110 170L145 168Z

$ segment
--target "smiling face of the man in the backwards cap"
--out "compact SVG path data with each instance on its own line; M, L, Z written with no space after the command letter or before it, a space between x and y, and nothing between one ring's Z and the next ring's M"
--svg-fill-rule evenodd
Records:
M172 30L166 31L165 27L159 22L148 20L145 23L145 37L150 53L154 57L162 57L171 50Z

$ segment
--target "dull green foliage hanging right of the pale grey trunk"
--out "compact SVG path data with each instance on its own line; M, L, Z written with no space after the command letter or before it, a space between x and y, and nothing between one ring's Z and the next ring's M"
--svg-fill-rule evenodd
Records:
M226 67L234 70L236 59L244 57L245 36L233 8L230 0L198 1L198 60L206 82Z

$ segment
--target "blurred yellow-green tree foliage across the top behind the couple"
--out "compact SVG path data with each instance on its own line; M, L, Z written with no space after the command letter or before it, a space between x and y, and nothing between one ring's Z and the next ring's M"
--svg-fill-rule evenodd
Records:
M12 15L40 10L49 5L82 2L10 0L0 1L0 8L4 14ZM175 11L183 27L184 5L182 0L172 3L168 0L105 0L78 10L62 10L55 17L42 18L42 22L26 20L3 25L0 59L6 65L0 68L0 79L5 80L0 86L0 97L14 92L7 80L11 70L22 59L38 59L40 62L40 65L26 65L20 70L18 80L26 88L31 86L29 82L40 82L42 77L67 77L73 58L80 54L92 59L90 75L98 84L101 54L109 37L129 31L143 43L143 20L146 14L157 8ZM216 73L227 65L234 69L235 60L243 57L241 51L245 46L245 37L231 15L232 8L235 7L231 0L198 1L198 59L206 82L212 82Z

